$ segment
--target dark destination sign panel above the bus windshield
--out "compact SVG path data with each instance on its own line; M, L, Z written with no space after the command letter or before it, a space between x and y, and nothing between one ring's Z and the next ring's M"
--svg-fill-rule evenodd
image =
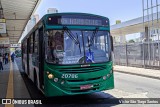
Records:
M89 26L107 26L107 18L88 17L88 16L51 16L48 17L49 25L89 25Z

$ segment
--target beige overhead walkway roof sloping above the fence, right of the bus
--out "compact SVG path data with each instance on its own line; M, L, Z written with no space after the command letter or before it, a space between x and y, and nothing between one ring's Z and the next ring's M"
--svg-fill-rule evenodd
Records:
M139 32L145 32L145 27L148 26L148 24L152 27L156 28L159 24L159 20L157 20L157 16L160 16L160 13L158 15L155 13L153 14L153 24L152 24L152 15L138 17L129 21L125 21L119 24L115 24L111 26L111 35L112 36L122 36L127 34L133 34L133 33L139 33ZM149 20L148 20L149 18Z

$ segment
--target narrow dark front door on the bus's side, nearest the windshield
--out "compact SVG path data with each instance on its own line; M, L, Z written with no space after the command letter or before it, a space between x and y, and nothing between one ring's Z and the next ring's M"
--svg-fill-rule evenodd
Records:
M44 86L44 43L43 43L43 27L39 29L39 82L40 88Z

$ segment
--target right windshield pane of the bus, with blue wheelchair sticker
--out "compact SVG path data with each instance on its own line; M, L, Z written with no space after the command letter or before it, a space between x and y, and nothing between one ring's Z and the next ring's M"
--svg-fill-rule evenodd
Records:
M108 38L107 31L84 31L86 63L109 61Z

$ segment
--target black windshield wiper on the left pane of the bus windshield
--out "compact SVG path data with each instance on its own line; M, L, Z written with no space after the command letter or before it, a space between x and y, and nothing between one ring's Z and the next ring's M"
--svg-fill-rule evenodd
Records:
M66 34L74 41L74 43L79 46L79 51L80 51L80 54L81 54L81 46L80 46L80 42L79 42L79 39L78 39L78 34L76 33L76 35L77 35L77 38L76 38L74 36L74 34L68 29L68 27L64 26L63 29L66 32Z

